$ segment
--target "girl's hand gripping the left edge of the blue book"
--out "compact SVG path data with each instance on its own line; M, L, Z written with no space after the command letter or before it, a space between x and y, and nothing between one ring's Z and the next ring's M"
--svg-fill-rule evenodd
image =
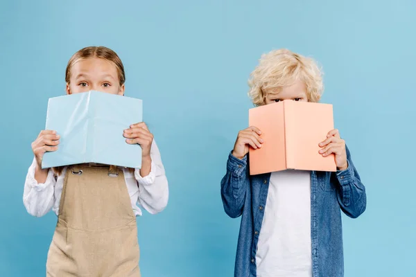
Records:
M37 139L32 143L33 154L37 163L37 168L42 168L42 159L45 152L55 152L58 150L60 136L55 131L42 130Z

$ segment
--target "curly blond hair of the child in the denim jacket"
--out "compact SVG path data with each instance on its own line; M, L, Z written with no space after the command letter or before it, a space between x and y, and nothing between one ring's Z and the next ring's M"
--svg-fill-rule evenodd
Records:
M279 91L297 80L306 85L309 102L320 100L324 84L315 60L287 49L271 51L261 55L259 65L250 74L248 95L255 106L265 105L267 93Z

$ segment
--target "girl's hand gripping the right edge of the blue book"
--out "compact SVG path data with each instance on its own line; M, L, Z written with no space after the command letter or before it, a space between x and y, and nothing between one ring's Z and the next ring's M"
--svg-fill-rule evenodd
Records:
M125 129L123 136L127 138L128 144L139 144L141 147L141 157L150 157L150 147L153 142L153 134L149 132L144 122L130 125L130 129Z

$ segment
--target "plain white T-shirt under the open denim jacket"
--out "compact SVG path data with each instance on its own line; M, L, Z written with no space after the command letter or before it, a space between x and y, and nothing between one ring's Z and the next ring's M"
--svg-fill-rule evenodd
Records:
M256 253L259 277L311 277L311 172L272 172Z

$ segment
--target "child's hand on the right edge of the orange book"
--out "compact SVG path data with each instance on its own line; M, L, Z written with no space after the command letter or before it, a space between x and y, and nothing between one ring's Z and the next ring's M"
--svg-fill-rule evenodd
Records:
M345 141L341 139L338 129L333 129L327 134L327 139L319 144L322 148L319 153L323 157L335 154L335 163L338 170L346 170L348 168L347 151L345 150Z

